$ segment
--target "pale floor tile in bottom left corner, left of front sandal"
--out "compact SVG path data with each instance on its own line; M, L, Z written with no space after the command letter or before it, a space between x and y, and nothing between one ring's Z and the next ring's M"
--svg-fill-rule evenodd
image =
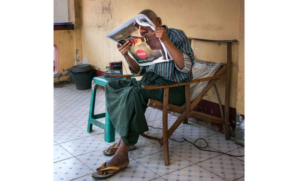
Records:
M93 173L76 157L54 163L54 180L72 180Z

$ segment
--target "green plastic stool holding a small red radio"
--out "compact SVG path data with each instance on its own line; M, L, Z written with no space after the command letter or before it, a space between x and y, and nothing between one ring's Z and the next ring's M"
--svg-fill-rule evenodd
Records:
M124 79L123 78L113 78L113 79ZM88 119L88 127L87 132L91 132L92 125L95 125L97 127L100 127L105 130L105 142L111 143L115 141L115 128L110 120L110 116L107 113L107 108L105 108L105 113L100 113L94 115L94 105L95 105L95 97L96 97L96 89L99 85L105 86L105 84L113 79L106 79L103 76L100 77L94 77L92 80L92 86L91 86L91 101L90 101L90 110L89 110L89 119ZM136 80L136 78L131 77L131 80ZM105 102L105 105L107 103ZM105 117L105 123L97 121L96 119L104 118Z

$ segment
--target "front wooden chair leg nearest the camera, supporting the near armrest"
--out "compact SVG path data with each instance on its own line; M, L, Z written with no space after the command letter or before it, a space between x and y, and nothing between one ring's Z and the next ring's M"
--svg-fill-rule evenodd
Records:
M170 165L169 157L169 141L168 141L168 130L167 130L167 107L169 101L169 88L164 88L164 100L163 100L163 109L162 109L162 139L164 146L164 165Z

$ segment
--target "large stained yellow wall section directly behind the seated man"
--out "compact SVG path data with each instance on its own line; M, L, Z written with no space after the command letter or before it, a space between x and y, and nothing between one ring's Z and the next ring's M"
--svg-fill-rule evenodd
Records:
M128 70L128 65L118 52L116 44L105 35L143 9L153 10L162 19L162 24L166 24L170 28L181 29L188 37L240 40L240 0L82 0L81 3L83 56L87 57L88 62L95 69L101 71L105 71L108 62L119 60L124 62L126 70ZM244 40L244 36L242 38ZM237 104L237 86L241 87L241 85L237 85L239 43L232 44L230 106L234 108ZM196 59L226 62L225 43L219 45L218 43L193 41L192 48ZM241 46L241 51L244 52L244 46ZM244 65L244 57L241 61ZM244 66L241 79L244 79ZM217 86L222 103L224 103L224 80L220 80ZM240 93L238 91L238 95ZM213 88L205 99L218 103Z

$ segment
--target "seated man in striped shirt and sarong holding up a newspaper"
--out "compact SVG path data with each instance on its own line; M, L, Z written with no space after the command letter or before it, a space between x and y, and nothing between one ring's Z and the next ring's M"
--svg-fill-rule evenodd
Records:
M117 48L127 61L131 73L145 75L140 81L111 80L105 85L107 112L121 138L113 147L104 151L110 155L114 154L114 156L92 174L92 177L96 179L111 177L128 166L130 146L137 143L140 133L149 130L144 115L148 99L163 101L163 89L147 90L141 85L164 85L193 79L194 54L184 32L162 25L161 18L157 17L152 10L143 10L139 14L146 15L156 26L156 30L153 32L148 26L134 24L135 28L139 30L140 36L148 36L149 40L146 45L153 51L161 50L162 47L156 47L155 43L160 39L172 55L173 60L139 66L128 55L127 50L130 43L127 41L122 46L117 43ZM169 89L170 104L181 106L184 102L184 86Z

